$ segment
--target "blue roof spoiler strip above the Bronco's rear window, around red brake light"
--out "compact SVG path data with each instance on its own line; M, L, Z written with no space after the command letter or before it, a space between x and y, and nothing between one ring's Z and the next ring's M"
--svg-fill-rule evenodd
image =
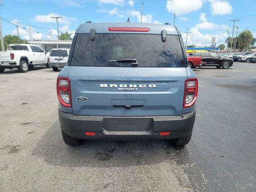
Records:
M128 31L109 31L108 27L132 27L132 28L149 28L148 32L128 32ZM76 33L90 33L91 29L95 29L96 33L131 33L131 34L161 34L162 30L166 30L168 35L181 35L176 26L168 24L152 24L152 23L85 23L80 24Z

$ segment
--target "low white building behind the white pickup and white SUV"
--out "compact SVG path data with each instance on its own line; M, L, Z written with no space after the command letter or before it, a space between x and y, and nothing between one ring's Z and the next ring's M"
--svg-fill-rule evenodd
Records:
M44 50L52 50L53 48L70 48L72 40L31 40L30 44L42 47Z

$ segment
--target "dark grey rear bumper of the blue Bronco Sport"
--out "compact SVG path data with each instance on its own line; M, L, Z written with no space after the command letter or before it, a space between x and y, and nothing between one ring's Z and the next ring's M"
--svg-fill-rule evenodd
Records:
M92 140L178 138L193 129L195 117L196 110L178 116L146 117L76 116L59 110L60 127L66 134L75 138ZM150 122L145 129L143 123L138 125L138 121L143 122L142 119ZM139 130L136 131L134 128ZM160 132L166 131L169 131L170 135L160 136ZM96 134L95 136L86 136L85 132L95 132Z

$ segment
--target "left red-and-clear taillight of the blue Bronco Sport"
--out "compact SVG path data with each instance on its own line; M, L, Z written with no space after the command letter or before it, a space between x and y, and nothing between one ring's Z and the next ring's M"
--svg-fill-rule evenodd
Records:
M64 107L72 107L71 103L71 86L68 77L57 78L57 94L60 103Z

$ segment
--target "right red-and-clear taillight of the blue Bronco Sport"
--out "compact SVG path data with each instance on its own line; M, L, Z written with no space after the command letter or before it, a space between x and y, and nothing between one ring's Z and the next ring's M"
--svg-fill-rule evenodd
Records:
M198 91L197 78L186 79L183 108L191 107L196 102L197 91Z

